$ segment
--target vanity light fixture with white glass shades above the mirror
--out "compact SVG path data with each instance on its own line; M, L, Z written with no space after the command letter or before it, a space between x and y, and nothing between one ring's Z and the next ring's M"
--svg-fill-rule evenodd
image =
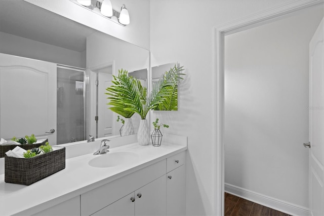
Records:
M120 12L112 8L110 0L70 0L102 17L105 17L119 25L130 24L130 15L125 5L121 6ZM89 4L90 2L90 4Z

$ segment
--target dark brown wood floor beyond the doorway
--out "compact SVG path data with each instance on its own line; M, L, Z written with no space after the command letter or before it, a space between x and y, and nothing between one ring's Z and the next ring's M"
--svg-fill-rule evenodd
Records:
M289 214L259 205L225 193L225 216L290 216Z

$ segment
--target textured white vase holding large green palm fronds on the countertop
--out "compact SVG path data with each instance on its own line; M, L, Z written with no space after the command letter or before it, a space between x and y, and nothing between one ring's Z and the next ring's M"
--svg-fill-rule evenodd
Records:
M183 67L175 65L169 71L166 71L154 83L149 95L147 95L147 89L141 85L141 82L136 78L129 77L126 70L119 70L118 77L113 76L113 86L106 89L108 91L106 94L110 95L108 104L112 105L112 107L118 105L119 109L137 113L141 117L137 132L139 145L148 145L150 142L149 126L146 119L147 113L166 100L166 96L171 93L171 89L168 87L178 85L180 80L183 79L181 75L184 74L180 74L182 70ZM123 76L120 76L120 74ZM123 104L124 107L121 107L120 104Z

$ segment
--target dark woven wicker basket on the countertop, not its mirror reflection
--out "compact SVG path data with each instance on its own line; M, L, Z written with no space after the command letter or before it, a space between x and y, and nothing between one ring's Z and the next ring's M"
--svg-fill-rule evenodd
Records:
M57 148L57 147L53 147ZM32 158L5 156L5 182L31 185L65 168L65 148Z

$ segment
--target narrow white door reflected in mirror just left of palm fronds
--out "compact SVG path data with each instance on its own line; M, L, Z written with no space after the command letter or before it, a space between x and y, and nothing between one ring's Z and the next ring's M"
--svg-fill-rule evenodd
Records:
M104 72L98 73L98 137L105 137L112 135L112 111L108 109L107 103L109 99L106 95L106 88L111 86L111 74ZM116 121L116 120L115 120Z

